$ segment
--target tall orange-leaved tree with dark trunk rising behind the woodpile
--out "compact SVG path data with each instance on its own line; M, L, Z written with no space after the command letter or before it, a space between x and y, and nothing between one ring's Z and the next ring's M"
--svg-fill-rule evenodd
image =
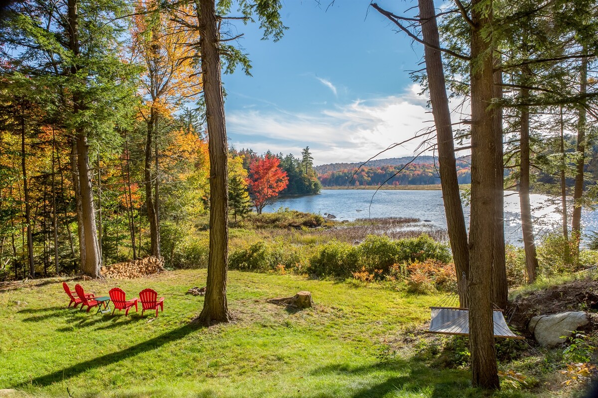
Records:
M139 115L147 125L145 203L151 254L160 257L158 132L165 127L164 120L170 118L176 106L199 94L202 88L194 69L197 50L193 43L197 42L199 32L173 21L155 0L138 0L135 11L130 51L133 60L145 66L139 89L143 103Z

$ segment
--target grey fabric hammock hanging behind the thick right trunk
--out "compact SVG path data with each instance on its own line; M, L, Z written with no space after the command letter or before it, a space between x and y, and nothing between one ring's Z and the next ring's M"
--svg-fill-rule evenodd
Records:
M459 297L456 294L446 295L430 308L432 315L428 333L469 335L469 310L459 307ZM524 337L514 334L509 329L501 309L493 310L492 319L494 321L494 337L524 340Z

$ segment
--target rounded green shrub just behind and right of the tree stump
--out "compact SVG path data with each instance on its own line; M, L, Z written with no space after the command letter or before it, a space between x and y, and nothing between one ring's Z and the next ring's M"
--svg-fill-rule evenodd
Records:
M351 277L358 270L358 250L349 243L338 240L322 245L310 258L306 269L316 276L334 277Z

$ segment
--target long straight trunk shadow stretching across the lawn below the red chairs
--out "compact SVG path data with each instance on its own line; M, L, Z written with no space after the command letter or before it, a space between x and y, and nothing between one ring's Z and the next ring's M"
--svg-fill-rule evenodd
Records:
M125 348L124 350L117 351L115 353L102 355L85 362L80 362L75 365L66 366L66 368L59 369L56 372L52 372L44 376L36 377L29 382L14 385L13 388L18 389L28 385L45 387L47 385L53 384L54 382L75 377L83 372L89 371L90 369L102 368L103 366L120 362L121 360L127 359L129 357L134 357L138 354L145 353L146 351L155 350L166 343L172 343L173 341L184 338L186 335L199 329L202 329L202 326L200 326L198 323L188 323L187 325L173 329L172 331L151 338L143 343L133 345L132 347Z

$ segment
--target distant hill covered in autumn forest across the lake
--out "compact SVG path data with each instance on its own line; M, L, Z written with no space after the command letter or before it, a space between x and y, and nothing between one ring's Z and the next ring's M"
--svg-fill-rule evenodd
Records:
M361 165L360 162L332 163L316 166L315 169L323 187L377 186L386 180L388 180L386 184L394 186L440 184L438 161L434 162L432 156L420 156L405 166L411 159L413 158L377 159L368 162L358 172L356 171ZM471 183L468 160L459 161L457 159L457 178L460 184ZM401 171L404 166L405 168ZM353 174L355 174L354 177Z

